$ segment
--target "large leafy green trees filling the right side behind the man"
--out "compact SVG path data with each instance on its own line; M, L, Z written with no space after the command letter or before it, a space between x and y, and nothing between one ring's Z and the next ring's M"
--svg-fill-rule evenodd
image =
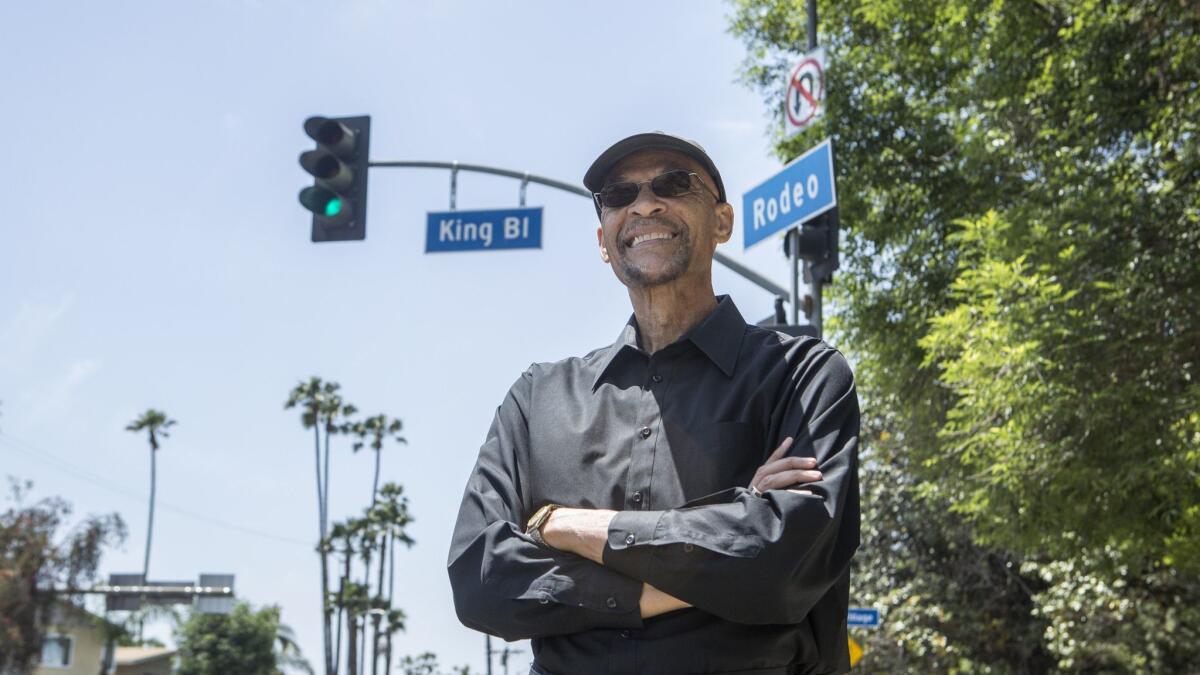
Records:
M805 20L800 2L736 2L744 77L774 121ZM856 593L919 584L913 604L946 610L884 631L910 659L906 639L941 635L942 661L916 668L1195 663L1182 619L1200 587L1200 12L848 0L822 2L820 29L826 114L791 139L780 125L775 148L788 160L833 138L830 335L874 430L866 510L892 501L905 516L914 575L868 568L890 556L878 531ZM912 548L930 542L941 552ZM940 585L944 563L960 580L982 567ZM996 619L962 614L965 589L1008 598L1001 644L947 631ZM1141 607L1157 629L1130 620Z

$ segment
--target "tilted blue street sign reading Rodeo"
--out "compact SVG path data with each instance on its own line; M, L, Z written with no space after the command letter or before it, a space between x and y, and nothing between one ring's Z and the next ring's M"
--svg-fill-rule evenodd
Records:
M836 205L833 145L826 139L742 196L744 247Z

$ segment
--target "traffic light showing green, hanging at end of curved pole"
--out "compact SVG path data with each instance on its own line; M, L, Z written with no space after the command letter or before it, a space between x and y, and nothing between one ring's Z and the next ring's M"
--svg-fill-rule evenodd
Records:
M317 142L316 150L300 155L313 178L300 191L300 203L312 211L312 240L365 239L371 118L308 118L304 130Z

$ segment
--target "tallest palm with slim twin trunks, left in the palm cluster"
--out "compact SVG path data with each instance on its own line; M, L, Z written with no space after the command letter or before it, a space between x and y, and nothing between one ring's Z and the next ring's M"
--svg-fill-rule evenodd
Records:
M300 424L312 429L313 455L317 473L317 530L320 537L317 552L320 556L320 604L323 638L325 647L325 673L334 673L332 652L332 607L329 604L329 437L343 426L338 422L354 414L354 406L346 405L337 393L342 388L336 382L323 382L312 376L307 382L298 383L288 394L283 408L300 407ZM325 431L325 456L322 461L320 431Z

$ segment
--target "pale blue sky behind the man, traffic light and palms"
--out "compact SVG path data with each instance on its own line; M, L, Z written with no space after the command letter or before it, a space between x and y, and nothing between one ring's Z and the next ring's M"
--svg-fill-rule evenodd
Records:
M630 312L595 215L530 186L544 249L424 253L449 174L374 169L367 240L313 245L296 203L311 114L371 114L374 159L461 160L578 181L647 130L700 141L734 208L779 168L768 110L737 83L731 8L677 2L5 2L0 127L0 473L79 513L120 512L140 568L149 460L124 426L179 420L158 459L151 577L232 572L320 658L311 436L282 404L310 375L401 417L384 458L418 544L397 568L400 653L482 669L445 574L496 406L529 363L611 342ZM515 205L463 174L460 208ZM724 247L787 283L778 241ZM718 269L743 313L772 298ZM53 458L59 458L61 461ZM335 447L332 515L370 498L371 458ZM199 514L239 528L197 518ZM246 530L272 533L256 534ZM528 645L514 663L529 661ZM515 668L514 671L520 671Z

